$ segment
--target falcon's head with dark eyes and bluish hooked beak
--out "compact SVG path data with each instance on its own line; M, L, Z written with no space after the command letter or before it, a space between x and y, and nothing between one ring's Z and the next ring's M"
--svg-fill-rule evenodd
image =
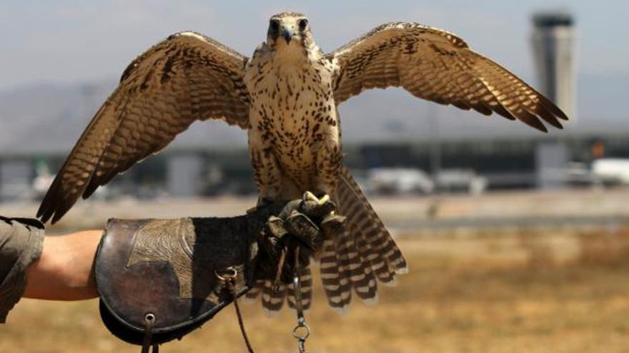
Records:
M269 19L267 46L276 51L309 48L313 43L306 16L296 12L282 12Z

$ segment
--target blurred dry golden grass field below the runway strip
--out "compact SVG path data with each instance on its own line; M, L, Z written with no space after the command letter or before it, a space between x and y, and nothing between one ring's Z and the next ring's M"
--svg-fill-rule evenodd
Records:
M629 228L402 237L411 272L380 304L340 316L320 287L309 352L629 352ZM318 285L318 283L317 283ZM257 352L296 352L294 316L244 305ZM245 352L233 307L164 352ZM0 352L138 352L102 326L97 302L23 300Z

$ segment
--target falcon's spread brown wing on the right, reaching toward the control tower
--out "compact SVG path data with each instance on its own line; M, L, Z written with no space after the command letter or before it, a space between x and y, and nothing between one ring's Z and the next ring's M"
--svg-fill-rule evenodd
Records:
M568 117L540 93L454 34L421 24L384 24L327 58L339 66L336 103L367 88L402 86L413 96L546 131Z

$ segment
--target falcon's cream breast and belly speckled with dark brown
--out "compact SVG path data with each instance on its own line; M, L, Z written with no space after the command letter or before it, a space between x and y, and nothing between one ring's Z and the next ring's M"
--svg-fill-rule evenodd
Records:
M272 198L334 190L342 153L332 74L332 64L322 57L275 58L260 51L249 65L249 150L261 190L281 185ZM269 167L269 159L279 170Z

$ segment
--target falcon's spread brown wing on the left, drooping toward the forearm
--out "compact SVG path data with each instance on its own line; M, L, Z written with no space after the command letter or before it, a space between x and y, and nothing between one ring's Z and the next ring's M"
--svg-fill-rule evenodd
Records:
M194 121L249 127L247 58L217 41L181 32L132 61L92 118L37 211L56 222L99 185L157 153Z

